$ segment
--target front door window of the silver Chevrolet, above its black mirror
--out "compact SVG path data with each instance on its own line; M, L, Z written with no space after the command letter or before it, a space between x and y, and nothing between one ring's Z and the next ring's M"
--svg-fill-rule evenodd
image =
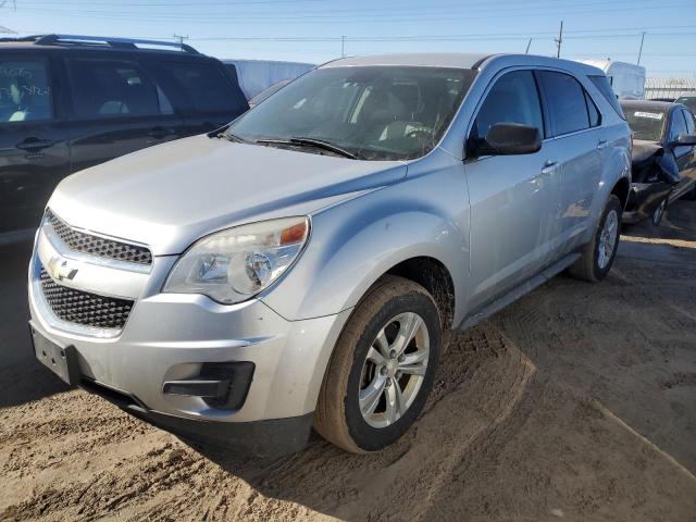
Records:
M544 136L542 104L531 71L513 71L501 76L481 105L471 138L483 139L496 123L520 123L539 129Z

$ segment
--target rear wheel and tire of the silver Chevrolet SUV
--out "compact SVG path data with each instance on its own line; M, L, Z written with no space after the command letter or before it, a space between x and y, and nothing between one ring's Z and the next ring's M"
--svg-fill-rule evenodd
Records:
M613 264L621 236L621 202L614 195L609 196L597 231L571 268L571 275L589 282L604 279Z

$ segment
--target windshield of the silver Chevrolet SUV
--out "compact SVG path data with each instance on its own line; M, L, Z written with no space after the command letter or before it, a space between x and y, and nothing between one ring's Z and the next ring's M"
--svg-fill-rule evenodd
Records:
M442 138L475 74L436 67L319 69L247 112L227 133L249 141L276 140L273 146L311 138L359 159L420 158Z

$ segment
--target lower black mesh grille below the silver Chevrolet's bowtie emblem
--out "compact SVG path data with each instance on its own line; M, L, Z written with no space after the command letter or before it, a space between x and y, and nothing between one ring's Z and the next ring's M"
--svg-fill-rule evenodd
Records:
M41 290L57 318L97 328L123 328L134 301L59 285L41 266Z

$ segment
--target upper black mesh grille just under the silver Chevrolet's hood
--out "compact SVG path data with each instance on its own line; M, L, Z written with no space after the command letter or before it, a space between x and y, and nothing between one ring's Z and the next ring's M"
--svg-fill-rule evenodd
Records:
M152 253L146 247L105 239L76 231L50 210L46 211L46 217L55 235L60 237L71 250L128 263L152 264Z

